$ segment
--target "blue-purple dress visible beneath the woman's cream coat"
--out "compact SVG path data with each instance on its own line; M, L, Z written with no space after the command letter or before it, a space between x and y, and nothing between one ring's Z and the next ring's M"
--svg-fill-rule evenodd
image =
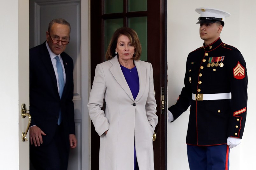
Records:
M127 82L127 84L130 87L130 90L132 92L132 97L135 100L138 93L139 93L139 75L136 67L133 67L132 69L128 69L122 65L121 69L124 74L124 78ZM134 170L139 170L138 162L136 159L136 151L135 151L135 144L134 144Z

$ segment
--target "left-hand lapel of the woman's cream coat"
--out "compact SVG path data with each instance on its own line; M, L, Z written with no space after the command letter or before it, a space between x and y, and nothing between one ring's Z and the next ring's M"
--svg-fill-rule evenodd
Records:
M110 62L113 64L113 66L110 67L110 72L112 73L114 78L117 80L117 83L124 89L127 95L134 101L132 97L132 92L124 78L124 74L121 70L117 57L112 58Z

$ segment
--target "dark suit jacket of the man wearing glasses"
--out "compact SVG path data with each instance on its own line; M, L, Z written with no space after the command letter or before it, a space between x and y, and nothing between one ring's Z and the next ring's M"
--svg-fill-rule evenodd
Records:
M66 72L66 84L60 99L57 80L49 52L44 42L30 49L30 114L31 126L37 125L46 133L43 145L47 145L57 128L61 109L65 142L69 148L69 134L75 134L74 103L73 103L73 60L62 52Z

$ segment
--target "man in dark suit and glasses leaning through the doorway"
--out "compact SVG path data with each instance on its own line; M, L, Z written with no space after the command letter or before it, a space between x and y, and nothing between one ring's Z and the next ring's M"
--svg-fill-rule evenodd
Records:
M35 169L65 170L75 148L73 60L64 52L70 24L53 19L46 41L30 49L30 160Z

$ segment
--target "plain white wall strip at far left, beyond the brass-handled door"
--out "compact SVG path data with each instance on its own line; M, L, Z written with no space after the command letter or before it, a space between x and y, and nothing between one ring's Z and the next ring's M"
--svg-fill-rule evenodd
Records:
M11 4L14 4L11 8ZM14 10L13 12L9 12ZM10 15L5 18L0 17L0 105L2 119L0 128L4 132L5 140L1 140L0 165L6 168L18 169L19 166L19 143L18 143L18 1L0 2L0 16ZM10 22L12 21L12 22ZM6 28L4 25L9 25ZM10 61L11 58L11 61ZM9 59L9 60L8 60ZM12 65L8 63L11 62ZM5 73L5 74L4 74ZM8 81L7 81L8 80ZM12 87L12 88L9 88ZM9 127L9 128L7 128ZM10 128L11 127L11 128ZM7 142L7 140L9 142ZM10 148L12 148L10 150ZM2 168L2 166L1 166Z

